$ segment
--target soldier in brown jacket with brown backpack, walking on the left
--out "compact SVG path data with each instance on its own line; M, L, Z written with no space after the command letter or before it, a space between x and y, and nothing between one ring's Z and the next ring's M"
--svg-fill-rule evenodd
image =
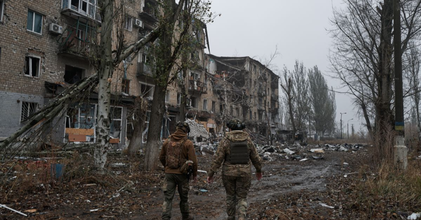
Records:
M180 195L180 211L183 220L192 220L194 217L188 211L189 177L183 164L192 166L193 182L197 182L197 158L193 142L187 139L190 128L186 122L176 124L176 132L170 135L162 145L159 160L165 167L165 182L163 191L165 201L163 204L162 219L171 219L174 194L176 187ZM183 166L184 168L185 166Z

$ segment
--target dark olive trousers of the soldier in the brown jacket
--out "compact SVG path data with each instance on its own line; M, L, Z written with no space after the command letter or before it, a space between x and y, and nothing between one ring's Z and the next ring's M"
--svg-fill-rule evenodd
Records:
M162 219L171 219L171 210L173 209L173 199L176 194L176 188L180 195L180 211L183 219L188 218L188 179L187 175L165 173L165 182L162 187L164 191L164 204L162 206Z

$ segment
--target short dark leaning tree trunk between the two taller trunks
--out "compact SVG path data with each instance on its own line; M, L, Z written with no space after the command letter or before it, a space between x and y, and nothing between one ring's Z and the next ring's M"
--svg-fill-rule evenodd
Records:
M136 155L142 145L142 133L145 129L147 101L141 96L135 100L135 121L133 122L133 136L127 148L128 155Z

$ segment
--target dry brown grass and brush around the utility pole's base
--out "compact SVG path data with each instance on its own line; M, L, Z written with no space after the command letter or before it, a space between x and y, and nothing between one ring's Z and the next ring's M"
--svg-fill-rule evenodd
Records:
M368 148L370 158L361 166L358 202L370 216L385 211L421 211L421 161L417 150L408 153L408 168L397 169L393 164L395 133L389 130L382 138L374 138ZM383 144L378 144L383 143Z

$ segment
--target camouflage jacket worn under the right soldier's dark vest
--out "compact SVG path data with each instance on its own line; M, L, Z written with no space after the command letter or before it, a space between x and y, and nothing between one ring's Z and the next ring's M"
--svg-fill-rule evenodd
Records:
M225 161L226 155L229 155L231 148L229 141L242 142L247 140L248 152L250 160L248 164L229 164ZM226 134L226 136L219 143L218 150L215 153L212 167L208 172L209 177L213 177L216 170L222 166L222 174L230 175L233 177L251 177L252 176L252 164L256 168L256 172L262 172L262 159L257 153L257 149L254 146L248 134L242 130L234 130Z

